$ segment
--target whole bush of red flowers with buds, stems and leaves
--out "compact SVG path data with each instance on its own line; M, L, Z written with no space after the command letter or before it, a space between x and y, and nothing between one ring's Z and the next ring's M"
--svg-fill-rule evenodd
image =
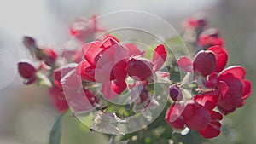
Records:
M23 43L34 62L20 61L18 70L24 84L49 88L59 112L68 113L70 109L76 117L80 113L84 117L93 113L89 129L110 134L110 143L140 143L145 136L151 137L145 143L159 139L164 143L176 142L180 140L172 132L183 135L188 130L206 139L213 138L220 135L224 116L245 104L252 93L252 84L245 79L242 66L225 68L229 49L224 47L218 30L208 28L204 17L196 15L184 21L183 30L183 39L193 47L195 54L191 55L195 56L192 59L182 56L169 65L168 60L174 57L170 56L166 43L153 46L152 58L148 58L148 51L139 49L135 43L121 43L118 37L109 34L96 37L96 33L105 30L98 27L93 15L90 22L76 20L70 26L79 49L65 49L57 54L53 48L39 46L34 38L24 37ZM177 80L180 76L174 74L179 72L178 68L186 73L182 80ZM154 84L166 84L169 96L159 117L152 120L150 110L160 107ZM151 124L131 134L122 131L118 125L131 123L126 117L137 113ZM155 132L159 129L162 132ZM56 140L55 135L53 130L50 143L60 141L61 136ZM123 136L117 140L112 135Z

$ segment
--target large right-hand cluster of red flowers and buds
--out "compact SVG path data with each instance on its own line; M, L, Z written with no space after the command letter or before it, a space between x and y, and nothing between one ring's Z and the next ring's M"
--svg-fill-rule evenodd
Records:
M188 23L192 25L191 20ZM205 50L199 51L193 61L185 56L177 60L177 66L188 74L181 84L171 85L170 96L174 102L165 119L174 129L186 126L198 130L205 138L213 138L220 134L219 121L223 115L242 107L251 95L251 83L244 79L243 67L224 69L228 53L223 47L223 39L218 37L218 30L201 32L197 43ZM183 91L192 83L197 93L188 96Z

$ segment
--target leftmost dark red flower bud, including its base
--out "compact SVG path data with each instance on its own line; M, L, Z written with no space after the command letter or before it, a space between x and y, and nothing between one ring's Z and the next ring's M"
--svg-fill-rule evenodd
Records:
M37 79L37 69L28 62L19 62L18 71L20 72L20 76L26 79L24 84L32 84Z

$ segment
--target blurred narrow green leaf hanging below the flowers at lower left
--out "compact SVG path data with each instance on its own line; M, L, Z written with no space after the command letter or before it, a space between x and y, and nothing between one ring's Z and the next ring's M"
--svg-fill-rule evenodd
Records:
M63 114L59 118L56 119L55 124L52 126L50 134L49 134L49 144L61 144L61 119Z

